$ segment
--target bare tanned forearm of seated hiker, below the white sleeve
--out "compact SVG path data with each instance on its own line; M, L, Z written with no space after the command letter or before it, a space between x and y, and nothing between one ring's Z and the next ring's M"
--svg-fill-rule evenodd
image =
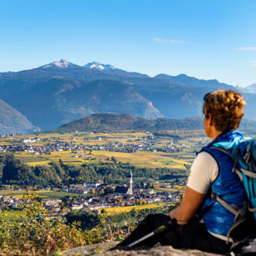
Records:
M187 187L180 205L173 211L170 211L170 218L176 219L179 225L187 224L190 219L195 217L195 214L203 203L205 197L205 194L201 194L194 189Z

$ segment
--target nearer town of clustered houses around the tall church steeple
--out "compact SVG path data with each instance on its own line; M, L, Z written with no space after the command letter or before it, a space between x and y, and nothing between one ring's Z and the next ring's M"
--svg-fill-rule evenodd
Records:
M184 182L179 183L184 186ZM184 192L184 189L177 189L177 192L156 192L158 189L167 189L170 188L170 184L161 183L155 181L151 187L147 188L148 184L143 184L143 188L134 189L132 181L132 173L127 178L127 184L112 187L106 185L103 181L97 182L86 182L85 184L72 184L69 187L64 186L61 189L59 188L31 188L36 189L35 191L63 191L70 193L62 198L51 198L43 200L43 203L46 208L48 208L49 214L52 215L64 215L69 211L79 210L80 213L91 211L95 214L99 214L100 210L104 208L113 208L119 206L138 206L146 205L150 203L171 203L173 201L179 200L181 192ZM140 184L141 186L141 184ZM135 187L138 187L138 184L135 184ZM2 185L2 188L6 192L11 192L10 185ZM4 192L4 190L1 190ZM23 189L18 189L22 191ZM14 190L15 191L15 190ZM16 190L16 192L18 192ZM78 194L78 196L73 196ZM86 195L86 196L84 196ZM13 196L3 196L0 195L0 210L18 210L23 206L25 200L23 198L18 199Z

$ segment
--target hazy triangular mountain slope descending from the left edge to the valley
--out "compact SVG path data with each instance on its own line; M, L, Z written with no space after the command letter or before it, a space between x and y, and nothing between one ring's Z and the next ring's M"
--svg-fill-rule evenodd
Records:
M29 134L39 131L17 110L0 99L0 134Z

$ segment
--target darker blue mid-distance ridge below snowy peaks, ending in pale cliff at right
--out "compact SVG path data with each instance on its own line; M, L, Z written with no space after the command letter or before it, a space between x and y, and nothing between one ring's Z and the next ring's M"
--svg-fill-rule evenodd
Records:
M146 118L162 117L152 103L127 83L116 80L51 79L4 91L4 100L41 129L54 129L92 113L132 113Z

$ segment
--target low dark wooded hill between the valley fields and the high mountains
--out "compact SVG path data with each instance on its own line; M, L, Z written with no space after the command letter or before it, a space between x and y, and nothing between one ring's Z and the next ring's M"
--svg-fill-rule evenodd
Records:
M146 118L132 116L130 114L97 113L86 118L81 118L64 124L51 132L108 132L116 130L167 130L167 129L203 129L203 117L191 117L184 119ZM244 118L241 122L241 130L255 130L256 121Z

